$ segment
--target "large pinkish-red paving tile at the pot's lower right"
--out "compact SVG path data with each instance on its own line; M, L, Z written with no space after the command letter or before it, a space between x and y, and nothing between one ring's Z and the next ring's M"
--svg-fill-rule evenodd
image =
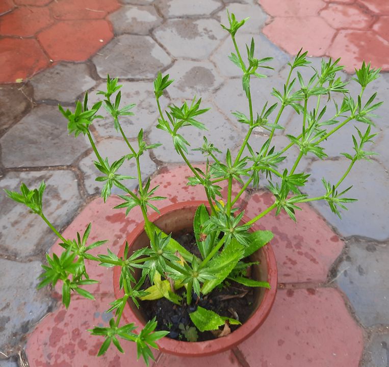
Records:
M255 367L358 367L362 330L338 291L278 290L261 328L239 346Z

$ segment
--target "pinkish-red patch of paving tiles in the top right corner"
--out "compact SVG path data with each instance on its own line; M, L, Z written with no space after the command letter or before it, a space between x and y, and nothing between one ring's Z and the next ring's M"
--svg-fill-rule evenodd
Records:
M389 70L387 0L258 0L270 15L263 33L291 55L342 58L354 72L363 60Z

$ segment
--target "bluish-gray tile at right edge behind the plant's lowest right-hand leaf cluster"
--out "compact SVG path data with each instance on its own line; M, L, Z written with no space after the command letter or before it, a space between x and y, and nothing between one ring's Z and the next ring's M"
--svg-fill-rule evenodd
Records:
M312 178L304 191L312 196L325 194L321 179L324 176L334 185L346 172L348 160L316 161L309 169ZM389 236L387 208L389 207L388 174L377 162L358 161L342 182L339 190L353 185L346 197L358 199L348 203L349 211L342 211L342 220L332 214L327 202L312 202L320 214L344 236L361 235L375 240L385 240Z

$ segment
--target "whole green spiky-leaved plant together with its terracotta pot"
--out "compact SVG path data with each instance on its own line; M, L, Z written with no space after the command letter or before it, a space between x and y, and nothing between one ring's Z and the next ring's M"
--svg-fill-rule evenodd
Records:
M138 358L142 355L148 364L149 359L153 358L150 348L158 348L158 345L171 353L210 354L230 348L250 335L270 311L277 281L274 254L270 245L265 246L273 235L270 231L257 230L254 224L273 209L276 215L285 211L292 220L296 220L295 211L300 209L298 204L314 200L326 200L332 212L340 216L339 208L345 209L344 204L354 199L345 197L350 188L341 192L338 188L356 161L369 159L369 155L374 154L364 148L376 135L371 133L371 117L375 116L372 112L381 103L374 102L376 93L369 96L366 103L362 104L362 99L366 86L378 77L379 69L362 63L361 68L356 70L354 81L360 84L361 91L354 100L346 88L348 83L336 76L343 69L339 65L340 59L323 60L321 70L313 69L313 76L304 81L297 70L307 67L309 62L306 60L307 53L300 50L293 62L288 64L290 72L283 90L273 88L272 95L279 102L272 106L265 102L260 108L261 113L255 114L250 80L252 77L265 77L258 70L271 69L267 62L272 58L256 59L254 40L251 40L246 45L245 62L235 35L247 19L237 21L234 14L228 14L228 20L229 28L222 27L230 34L236 50L229 59L242 70L242 86L249 106L249 116L238 111L233 113L238 122L247 125L248 129L235 157L227 149L225 158L219 159L221 151L204 137L204 143L196 149L206 157L206 164L203 168L194 167L187 158L190 144L180 132L189 125L206 129L199 117L208 109L201 108L201 98L194 98L190 103L173 105L163 112L159 100L173 81L169 80L169 75L162 76L161 73L154 80L154 94L160 113L157 128L172 137L176 152L193 173L188 185L203 186L207 198L205 202L175 204L161 211L153 204L155 200L164 198L158 196L158 187L150 187L150 178L142 179L140 156L148 149L158 148L160 144L147 145L142 129L138 134L137 146L128 141L120 120L133 115L131 109L135 105L122 106L121 86L117 78L109 76L107 89L98 92L104 98L102 101L88 108L86 94L84 103L76 102L74 112L65 111L61 106L59 109L68 121L69 133L75 137L83 134L90 141L97 158L94 164L100 171L96 180L103 183L103 199L111 195L111 189L115 186L123 191L123 195L119 195L122 203L115 208L125 209L126 215L135 207L139 207L142 212L144 222L128 234L120 253L114 254L108 250L107 254L91 255L91 249L106 241L87 245L90 224L82 235L77 233L74 240L64 238L44 216L44 182L37 189L30 190L22 183L20 193L6 191L11 199L24 203L38 214L61 240L64 251L60 255L46 255L47 265L42 266L44 272L40 276L42 281L39 287L62 282L62 303L65 307L69 306L71 295L75 293L94 298L84 289L85 285L96 282L86 272L85 259L97 261L101 266L115 267L117 299L109 308L109 311L114 312L114 317L108 326L90 330L93 335L104 337L98 355L105 353L111 344L123 352L121 343L129 340L137 344ZM295 71L297 77L292 78ZM321 102L325 98L329 102L335 93L341 94L343 101L340 105L334 101L334 116L324 118L326 107L320 107ZM313 99L315 108L310 111L308 101ZM102 105L113 117L114 127L128 146L128 152L112 163L99 154L89 131L93 121L101 118L98 110ZM288 107L301 116L301 134L287 135L290 144L276 151L272 139L277 129L283 129L279 120ZM322 196L308 197L302 194L300 189L309 177L309 174L298 171L303 155L314 154L324 159L326 153L320 144L353 120L365 123L366 128L356 128L357 134L352 136L353 154L343 153L350 160L346 172L335 183L323 178ZM249 138L256 128L263 129L268 137L262 146L251 147ZM292 146L299 149L297 159L292 167L280 171L279 164L286 159L288 149ZM125 160L135 160L138 177L117 173ZM238 200L247 188L257 188L262 177L268 180L274 203L256 217L246 218L237 205ZM139 189L136 192L126 188L124 182L127 179L138 179ZM241 184L237 195L232 194L233 182ZM226 195L223 197L224 183ZM235 291L231 292L234 287L235 290L238 288L238 295ZM245 304L239 306L239 312L237 307L234 309L228 306L228 301L235 302L237 299L243 300ZM165 306L166 303L168 306ZM152 317L156 304L164 312L170 311L168 316L160 312L157 318ZM179 318L173 317L177 314ZM126 321L124 325L120 324L123 320Z

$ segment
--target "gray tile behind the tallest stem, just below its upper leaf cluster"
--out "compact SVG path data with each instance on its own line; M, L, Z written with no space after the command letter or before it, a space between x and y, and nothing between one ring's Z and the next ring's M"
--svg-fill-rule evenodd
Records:
M269 107L277 102L277 99L270 93L272 92L272 87L280 89L282 85L283 80L278 76L261 79L256 77L251 78L250 91L254 116L256 116L256 112L261 113L266 101L268 101ZM234 111L243 112L247 116L249 114L248 100L246 98L246 93L243 91L241 78L231 79L225 82L215 93L214 100L220 110L228 116ZM288 110L282 114L279 121L282 126L286 124L289 114L290 111ZM275 119L276 114L273 112L271 116ZM231 116L231 119L235 119L235 117Z

